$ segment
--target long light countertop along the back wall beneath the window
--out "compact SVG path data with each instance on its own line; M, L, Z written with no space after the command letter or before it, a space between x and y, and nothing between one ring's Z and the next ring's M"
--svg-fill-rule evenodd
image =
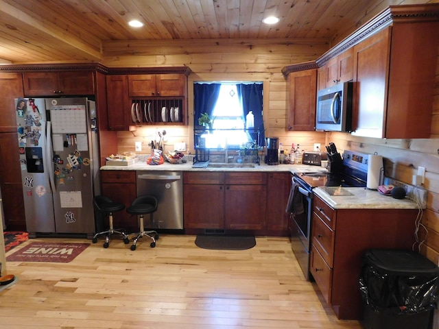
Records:
M215 163L213 163L215 164ZM239 165L239 164L238 164ZM254 164L253 168L248 167L236 167L236 168L192 168L192 162L171 164L165 162L158 165L150 165L144 161L139 161L129 166L103 166L101 170L123 170L123 171L265 171L265 172L289 172L289 173L302 173L302 172L316 172L327 171L319 166L311 166L307 164L278 164L268 165L265 163Z

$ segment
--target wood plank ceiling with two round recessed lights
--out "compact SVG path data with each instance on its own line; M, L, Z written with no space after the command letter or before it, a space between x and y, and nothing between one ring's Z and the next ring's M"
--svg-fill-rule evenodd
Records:
M124 52L136 44L141 45L143 52L165 52L167 45L190 45L206 39L330 43L346 36L388 5L405 2L0 0L0 58L3 59L0 62L100 62L110 54L115 56L115 49L121 46ZM436 0L410 1L427 2ZM281 21L276 25L261 23L270 15L278 16ZM145 25L138 29L129 27L128 21L132 19ZM128 54L135 54L134 50Z

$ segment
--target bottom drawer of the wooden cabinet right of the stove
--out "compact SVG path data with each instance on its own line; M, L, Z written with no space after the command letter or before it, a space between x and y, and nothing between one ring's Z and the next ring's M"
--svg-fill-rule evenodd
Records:
M315 245L311 245L310 270L313 278L322 292L324 299L331 304L332 293L332 269L325 263Z

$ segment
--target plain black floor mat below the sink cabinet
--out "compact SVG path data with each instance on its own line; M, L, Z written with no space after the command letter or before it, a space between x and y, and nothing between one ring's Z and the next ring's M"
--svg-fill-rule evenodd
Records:
M245 250L256 245L254 236L197 235L195 245L203 249Z

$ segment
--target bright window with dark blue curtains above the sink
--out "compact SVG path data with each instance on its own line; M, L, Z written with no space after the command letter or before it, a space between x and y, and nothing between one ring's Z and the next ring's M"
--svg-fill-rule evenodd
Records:
M198 118L207 113L211 130L202 135L206 148L239 148L248 143L261 145L262 83L219 82L194 84L194 127ZM254 128L246 130L249 112L254 117Z

